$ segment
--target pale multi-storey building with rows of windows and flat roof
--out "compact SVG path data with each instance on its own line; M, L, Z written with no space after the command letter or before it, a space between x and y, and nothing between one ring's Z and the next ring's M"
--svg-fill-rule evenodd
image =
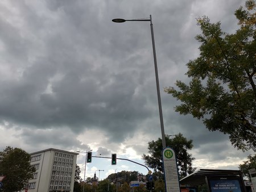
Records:
M27 184L27 191L73 192L79 153L49 148L30 155L30 164L36 168L36 172Z

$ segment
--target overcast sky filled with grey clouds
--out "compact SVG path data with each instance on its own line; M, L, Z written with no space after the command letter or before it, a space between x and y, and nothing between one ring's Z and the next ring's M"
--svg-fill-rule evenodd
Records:
M209 132L164 87L189 82L187 62L199 55L196 18L237 29L241 0L1 0L0 149L93 150L93 156L129 158L143 164L148 141L161 136L150 22L114 18L152 15L164 130L193 140L197 168L238 169L253 153L237 151L228 135ZM77 164L84 173L84 155ZM96 170L104 170L103 173ZM93 158L86 177L147 170L130 162L110 165Z

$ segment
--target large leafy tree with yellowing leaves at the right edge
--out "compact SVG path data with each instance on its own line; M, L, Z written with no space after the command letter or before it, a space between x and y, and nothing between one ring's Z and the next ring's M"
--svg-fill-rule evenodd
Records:
M176 81L167 87L181 105L175 110L203 119L210 131L229 134L238 149L256 150L256 14L255 2L246 1L235 11L240 28L234 34L221 30L221 23L197 18L201 35L196 36L200 56L188 62L191 82Z

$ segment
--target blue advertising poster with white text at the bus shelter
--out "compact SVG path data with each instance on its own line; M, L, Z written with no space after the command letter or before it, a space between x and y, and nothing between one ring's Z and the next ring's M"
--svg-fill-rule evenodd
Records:
M240 177L207 177L210 192L245 192Z

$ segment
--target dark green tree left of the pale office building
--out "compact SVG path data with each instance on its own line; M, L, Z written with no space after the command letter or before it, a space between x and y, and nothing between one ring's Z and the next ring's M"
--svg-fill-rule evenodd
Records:
M0 173L6 176L3 190L20 191L33 177L35 168L30 165L30 155L19 148L6 147L0 152Z

